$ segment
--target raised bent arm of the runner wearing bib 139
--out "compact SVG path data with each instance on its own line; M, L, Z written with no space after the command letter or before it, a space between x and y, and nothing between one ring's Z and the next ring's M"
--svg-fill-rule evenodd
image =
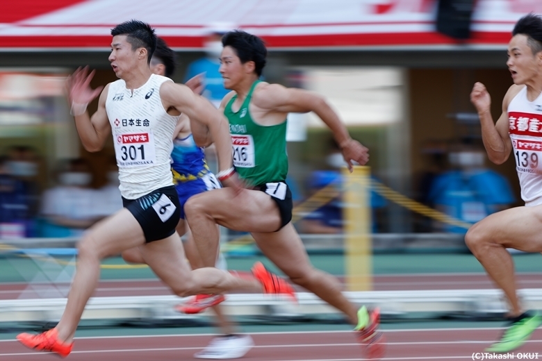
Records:
M482 141L489 160L495 164L502 164L510 156L512 144L510 141L508 105L511 99L518 94L521 88L512 85L502 100L502 114L496 123L491 117L491 96L482 83L475 83L470 93L470 101L475 106L482 126Z

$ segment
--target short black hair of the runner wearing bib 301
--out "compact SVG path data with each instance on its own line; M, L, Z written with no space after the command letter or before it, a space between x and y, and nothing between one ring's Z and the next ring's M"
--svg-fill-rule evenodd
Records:
M132 50L147 49L147 63L151 63L152 54L156 50L156 34L149 24L132 19L112 28L111 35L126 35L126 41L131 44Z

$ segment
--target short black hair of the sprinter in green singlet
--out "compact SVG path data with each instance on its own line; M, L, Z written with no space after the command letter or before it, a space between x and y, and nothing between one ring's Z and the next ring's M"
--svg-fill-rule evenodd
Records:
M254 71L258 76L261 76L263 67L265 67L265 58L268 56L268 49L265 49L263 40L245 31L234 30L222 37L222 46L235 49L242 64L253 61Z

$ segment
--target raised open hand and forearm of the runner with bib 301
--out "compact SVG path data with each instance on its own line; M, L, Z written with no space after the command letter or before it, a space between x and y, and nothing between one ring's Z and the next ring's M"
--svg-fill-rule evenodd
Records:
M88 68L77 69L67 79L68 101L72 104L75 117L75 126L81 142L87 151L100 151L111 131L106 112L106 99L109 85L101 92L98 101L98 110L90 117L86 105L100 94L101 87L92 90L90 81L94 71L88 74Z

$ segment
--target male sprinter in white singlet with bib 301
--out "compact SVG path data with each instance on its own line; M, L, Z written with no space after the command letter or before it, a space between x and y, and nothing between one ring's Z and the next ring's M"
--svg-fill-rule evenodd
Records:
M124 208L92 226L81 239L76 274L58 325L38 335L17 335L19 342L31 349L63 357L72 351L77 324L99 280L100 261L133 247L139 247L145 263L179 296L232 289L293 294L288 283L261 264L254 267L254 279L236 278L214 267L190 270L175 232L180 205L170 169L173 133L181 112L194 124L208 126L219 167L229 169L227 121L188 87L151 74L149 62L156 49L156 35L148 24L131 20L115 26L111 35L109 60L120 80L106 85L97 112L90 117L86 110L101 91L90 88L93 74L87 69L70 78L68 90L85 149L101 150L113 132ZM231 176L222 183L237 185ZM274 287L270 289L270 285Z

